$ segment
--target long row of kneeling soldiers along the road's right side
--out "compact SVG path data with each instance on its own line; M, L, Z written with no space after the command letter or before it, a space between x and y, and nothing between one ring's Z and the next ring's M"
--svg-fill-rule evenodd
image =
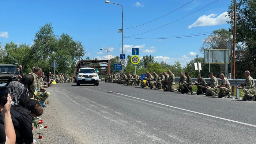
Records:
M203 96L218 96L219 98L230 98L231 95L231 86L229 80L225 77L223 73L219 75L220 84L218 84L218 79L214 76L212 72L208 73L210 81L206 83L204 78L201 75L197 75L197 82L192 82L191 76L188 72L180 73L180 80L178 86L175 88L175 76L172 71L167 71L160 73L160 76L153 72L152 75L149 72L146 74L141 74L139 77L136 74L108 74L106 75L105 82L108 83L118 83L126 84L127 86L141 86L143 88L150 88L160 91L170 91L176 92L179 91L182 94L193 94L192 87L195 85L197 87L196 94ZM238 89L242 89L244 96L242 97L243 101L255 101L255 83L253 78L250 76L249 71L244 72L245 83L241 83L238 86ZM217 91L219 89L219 93Z

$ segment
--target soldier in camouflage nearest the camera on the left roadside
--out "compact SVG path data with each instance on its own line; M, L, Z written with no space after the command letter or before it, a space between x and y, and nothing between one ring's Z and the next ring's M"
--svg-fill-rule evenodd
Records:
M39 94L39 92L40 92L40 82L39 82L39 77L38 77L39 72L40 72L40 68L35 67L34 71L32 73L32 75L34 76L34 81L29 89L29 98L34 98L33 96L34 96L34 92L36 89L37 89L37 94Z

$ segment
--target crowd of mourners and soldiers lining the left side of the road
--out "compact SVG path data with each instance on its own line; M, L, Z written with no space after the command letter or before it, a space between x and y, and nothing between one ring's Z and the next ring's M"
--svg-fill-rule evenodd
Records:
M74 82L73 77L62 73L46 76L39 67L33 67L29 74L23 75L22 65L17 68L17 76L10 77L6 86L7 103L1 105L0 144L33 144L32 121L43 114L43 108L36 100L52 83Z

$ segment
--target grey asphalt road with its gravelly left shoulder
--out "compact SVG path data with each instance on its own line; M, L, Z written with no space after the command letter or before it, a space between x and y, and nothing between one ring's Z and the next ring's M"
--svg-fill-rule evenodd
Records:
M44 141L86 144L253 144L256 102L100 83L48 88ZM50 125L50 126L49 126Z

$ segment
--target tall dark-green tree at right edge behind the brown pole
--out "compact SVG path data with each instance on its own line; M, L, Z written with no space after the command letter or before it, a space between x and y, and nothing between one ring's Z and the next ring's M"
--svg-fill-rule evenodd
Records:
M234 0L229 6L228 16L231 24L229 31L234 30ZM246 57L246 62L253 62L256 66L256 0L240 0L237 3L236 12L236 43L241 43L243 50L248 50L249 55ZM241 59L242 57L240 57ZM242 63L242 64L246 64ZM236 69L236 71L239 69Z

